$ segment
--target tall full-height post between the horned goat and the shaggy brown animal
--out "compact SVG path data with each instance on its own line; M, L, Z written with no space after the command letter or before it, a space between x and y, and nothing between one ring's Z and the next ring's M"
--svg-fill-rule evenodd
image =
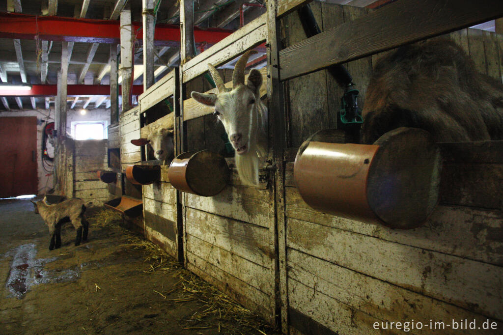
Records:
M273 163L276 165L274 174L274 198L276 204L276 224L274 225L277 236L278 261L275 264L276 276L276 313L279 315L277 326L281 324L283 333L288 333L288 286L286 271L286 220L285 220L285 165L283 152L287 145L286 140L286 116L283 100L283 85L280 82L279 52L281 49L281 37L278 21L276 20L278 0L267 2L267 41L269 44L267 93L269 97L269 131L273 134Z

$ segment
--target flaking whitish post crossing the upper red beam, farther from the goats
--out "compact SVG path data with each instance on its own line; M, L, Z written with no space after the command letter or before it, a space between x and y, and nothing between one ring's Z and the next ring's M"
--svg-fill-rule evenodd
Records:
M126 7L121 12L121 67L119 69L122 76L122 111L131 109L129 91L131 89L131 71L133 68L133 47L132 47L132 26L131 7Z

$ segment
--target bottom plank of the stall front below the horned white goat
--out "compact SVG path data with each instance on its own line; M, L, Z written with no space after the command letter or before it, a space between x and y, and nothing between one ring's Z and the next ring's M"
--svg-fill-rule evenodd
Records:
M243 306L253 310L269 323L274 323L274 308L271 297L248 283L223 272L204 259L187 253L187 269L228 294Z

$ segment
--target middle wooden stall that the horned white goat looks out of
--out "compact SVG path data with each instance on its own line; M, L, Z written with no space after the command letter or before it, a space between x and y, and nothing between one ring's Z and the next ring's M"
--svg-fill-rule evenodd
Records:
M180 75L183 151L209 149L226 155L225 131L211 115L213 109L188 98L192 91L217 92L201 76L207 72L208 63L218 68L246 50L263 45L266 39L266 15L263 15L183 64ZM226 86L232 86L232 69L218 70ZM265 74L266 69L263 96L267 93ZM277 310L274 191L265 170L267 163L262 164L262 184L256 188L243 186L233 169L233 158L226 159L231 177L222 192L213 197L183 194L185 266L274 323Z

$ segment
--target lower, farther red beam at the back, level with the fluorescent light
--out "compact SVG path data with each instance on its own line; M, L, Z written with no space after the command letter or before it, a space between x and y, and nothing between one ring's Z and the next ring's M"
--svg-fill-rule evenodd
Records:
M0 97L45 97L56 96L56 85L32 85L31 90L27 91L12 91L3 90L0 86ZM121 94L122 86L119 86L119 95ZM109 85L67 85L66 91L68 96L109 96ZM143 85L133 85L132 95L137 96L143 93Z

